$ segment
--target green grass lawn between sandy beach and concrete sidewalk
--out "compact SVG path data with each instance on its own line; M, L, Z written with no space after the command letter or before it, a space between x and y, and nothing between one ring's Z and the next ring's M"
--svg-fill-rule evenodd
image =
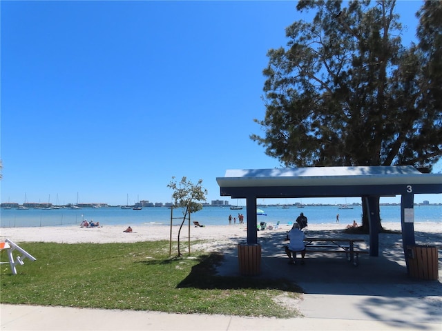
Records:
M25 259L13 275L1 265L1 303L155 310L287 318L298 315L277 297L296 299L288 280L220 277L220 254L169 258L169 241L140 243L23 243ZM1 261L8 261L1 252Z

